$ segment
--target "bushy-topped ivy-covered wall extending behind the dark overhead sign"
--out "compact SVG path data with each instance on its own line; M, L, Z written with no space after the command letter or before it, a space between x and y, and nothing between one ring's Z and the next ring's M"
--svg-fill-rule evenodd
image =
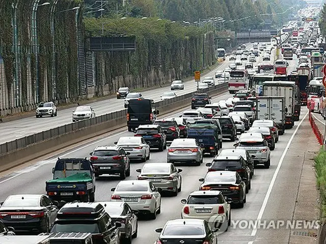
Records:
M88 37L136 37L135 51L95 52L95 89L89 96L114 93L120 86L153 87L193 75L216 62L213 33L157 18L85 19ZM104 32L102 32L102 27Z

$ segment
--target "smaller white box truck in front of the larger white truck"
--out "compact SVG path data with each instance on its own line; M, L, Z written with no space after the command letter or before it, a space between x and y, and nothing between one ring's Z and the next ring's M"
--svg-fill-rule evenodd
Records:
M284 97L257 97L256 118L274 120L279 135L285 130L285 102Z

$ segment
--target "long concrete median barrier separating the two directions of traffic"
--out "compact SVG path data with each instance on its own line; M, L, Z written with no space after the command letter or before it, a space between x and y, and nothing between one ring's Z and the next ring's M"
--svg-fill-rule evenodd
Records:
M228 84L224 83L202 89L200 93L216 96L227 90ZM191 105L191 99L195 93L159 101L155 103L155 106L160 115L164 115ZM83 140L126 127L126 115L127 110L123 109L3 143L0 145L0 172Z

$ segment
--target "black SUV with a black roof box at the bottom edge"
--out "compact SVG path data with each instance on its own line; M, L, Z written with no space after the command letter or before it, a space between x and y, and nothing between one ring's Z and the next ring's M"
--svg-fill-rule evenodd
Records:
M100 203L70 202L59 210L50 232L92 233L94 244L120 243L121 226L112 221Z

